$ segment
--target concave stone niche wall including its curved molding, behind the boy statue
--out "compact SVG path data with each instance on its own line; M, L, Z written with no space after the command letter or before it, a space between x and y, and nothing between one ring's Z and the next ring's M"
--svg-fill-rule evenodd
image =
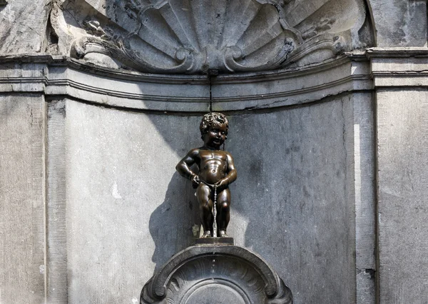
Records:
M370 204L373 173L364 154L372 145L367 61L342 56L294 71L219 75L210 100L206 76L9 60L6 88L48 100L51 303L132 303L156 269L193 243L198 208L175 165L200 146L198 123L210 107L230 119L235 244L267 260L295 303L353 303L355 211ZM354 160L366 168L359 183ZM357 201L361 185L368 192Z

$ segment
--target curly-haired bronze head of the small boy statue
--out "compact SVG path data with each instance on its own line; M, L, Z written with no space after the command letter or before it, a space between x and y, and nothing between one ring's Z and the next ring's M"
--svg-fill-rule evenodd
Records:
M228 118L217 112L205 114L200 122L199 130L205 145L218 148L228 138Z

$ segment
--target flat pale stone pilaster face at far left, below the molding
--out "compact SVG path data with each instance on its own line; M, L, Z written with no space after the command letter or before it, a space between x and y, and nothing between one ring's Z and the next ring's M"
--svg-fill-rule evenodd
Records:
M44 300L44 98L0 96L0 303Z

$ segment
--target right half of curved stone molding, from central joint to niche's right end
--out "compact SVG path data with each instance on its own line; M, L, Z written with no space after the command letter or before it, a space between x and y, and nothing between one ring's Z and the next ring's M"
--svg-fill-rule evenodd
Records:
M212 81L212 108L255 111L311 103L347 91L370 89L369 74L367 62L343 57L312 69L219 76Z

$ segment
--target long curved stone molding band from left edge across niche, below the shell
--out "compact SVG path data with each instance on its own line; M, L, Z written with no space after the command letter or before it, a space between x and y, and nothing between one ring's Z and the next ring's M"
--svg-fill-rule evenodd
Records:
M347 54L300 69L211 78L108 69L65 56L0 56L0 91L39 91L147 111L257 110L370 89L370 66L364 54Z

